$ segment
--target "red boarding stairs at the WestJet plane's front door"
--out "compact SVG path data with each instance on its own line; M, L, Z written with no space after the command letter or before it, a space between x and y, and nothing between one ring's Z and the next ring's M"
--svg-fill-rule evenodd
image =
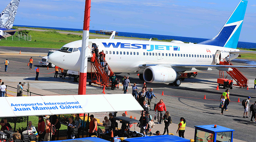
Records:
M103 54L103 58L105 63L107 61L105 60L106 54ZM94 70L94 71L92 71ZM95 58L94 62L91 62L91 83L99 84L101 86L108 87L110 83L110 76L113 75L113 71L111 70L110 66L108 65L108 75L103 70L102 66L100 65L100 62L97 58Z

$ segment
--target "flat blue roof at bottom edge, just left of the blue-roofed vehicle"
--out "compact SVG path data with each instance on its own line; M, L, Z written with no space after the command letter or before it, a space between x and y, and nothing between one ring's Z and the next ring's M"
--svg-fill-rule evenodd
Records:
M178 136L161 135L151 137L127 138L123 142L190 142L190 140Z

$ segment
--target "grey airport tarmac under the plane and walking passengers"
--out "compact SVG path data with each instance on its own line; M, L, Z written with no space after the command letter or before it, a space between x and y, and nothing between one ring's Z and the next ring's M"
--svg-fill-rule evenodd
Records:
M19 54L20 50L21 54ZM48 50L45 48L0 47L0 78L7 85L8 96L16 96L16 89L11 87L16 87L18 82L26 82L26 85L29 82L31 85L30 91L41 95L69 95L78 93L78 83L68 80L68 77L65 80L53 78L54 69L52 68L47 70L47 67L40 66L39 81L35 81L35 67L33 66L32 70L29 70L27 63L30 56L32 56L34 59L33 65L38 65L38 61L47 55ZM10 62L7 72L4 72L5 59L8 59ZM245 65L239 61L231 62L234 65ZM241 103L237 103L238 98L242 102L248 96L252 97L250 104L256 100L255 90L253 89L253 82L256 78L254 75L255 69L239 70L249 79L249 90L238 87L234 87L232 90L230 89L231 102L228 106L228 111L224 111L224 115L220 115L219 98L225 89L220 87L219 91L216 90L216 82L217 78L219 78L219 71L216 69L213 69L213 71L200 71L196 78L191 77L185 79L179 87L153 83L146 83L146 85L148 88L153 88L153 92L157 95L158 99L156 103L159 102L159 99L163 99L167 111L171 114L173 124L169 126L169 133L177 135L175 133L177 124L179 123L180 117L184 117L187 121L185 138L194 138L194 126L217 124L235 130L234 138L236 140L234 142L255 142L256 124L250 122L250 119L242 118L244 109ZM127 76L127 74L121 73L117 77L121 79L123 75ZM226 75L225 73L224 76ZM128 76L132 84L136 83L139 89L142 88L144 81L139 80L137 74L130 74ZM227 78L231 77L228 76ZM89 81L90 78L87 78L87 82ZM106 88L105 92L109 94L122 93L122 86L119 85L119 87L119 89L114 91ZM164 91L164 95L161 95L162 91ZM129 87L127 93L131 92L132 88ZM102 88L96 84L87 85L86 94L102 94ZM26 92L23 95L27 95ZM204 95L206 95L206 99L203 99ZM154 102L155 100L153 99L152 103L154 104ZM102 105L100 102L97 103ZM129 104L129 102L125 103ZM139 119L139 113L139 111L128 112L128 116L133 116L133 118L135 116ZM154 116L154 111L150 111L150 114ZM104 118L103 115L108 115L108 113L94 115L102 121ZM122 115L122 112L118 112L118 116L120 115ZM137 127L135 127L135 130L137 130ZM164 131L164 124L156 124L155 128L151 131L155 133L157 130L162 133Z

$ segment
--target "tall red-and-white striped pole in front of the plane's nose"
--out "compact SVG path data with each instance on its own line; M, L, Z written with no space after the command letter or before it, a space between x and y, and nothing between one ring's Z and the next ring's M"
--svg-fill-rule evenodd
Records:
M82 48L80 52L80 57L82 62L80 65L80 74L79 74L79 86L78 94L86 94L86 77L87 77L87 58L88 58L88 40L89 40L89 28L90 28L90 11L91 11L91 0L85 1L85 14L84 14L84 28L83 28L83 37L82 37Z

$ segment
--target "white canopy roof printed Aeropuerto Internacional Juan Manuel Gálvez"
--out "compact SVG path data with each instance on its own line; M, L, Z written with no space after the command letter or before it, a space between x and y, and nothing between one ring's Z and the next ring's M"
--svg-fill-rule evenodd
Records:
M0 97L0 117L143 110L132 94Z

